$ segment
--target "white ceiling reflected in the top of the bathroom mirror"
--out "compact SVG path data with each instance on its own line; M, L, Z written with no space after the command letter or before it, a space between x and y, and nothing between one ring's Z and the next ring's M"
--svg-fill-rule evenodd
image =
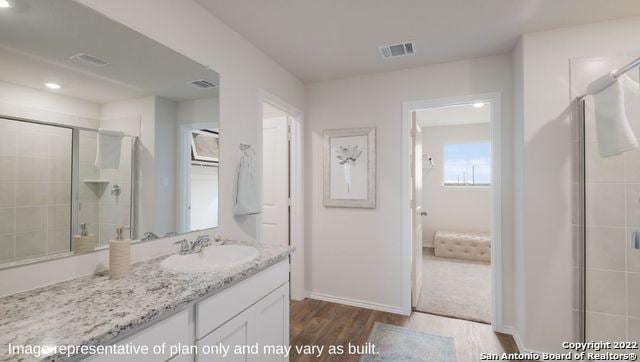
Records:
M0 9L0 80L40 90L55 82L62 95L107 103L157 95L181 101L218 96L188 82L218 74L71 0L16 0ZM87 53L104 67L69 59Z

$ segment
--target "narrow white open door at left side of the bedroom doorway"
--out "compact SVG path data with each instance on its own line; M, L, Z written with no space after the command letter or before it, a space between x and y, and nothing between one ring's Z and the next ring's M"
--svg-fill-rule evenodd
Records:
M416 306L422 289L422 131L416 121L416 113L411 117L411 304Z

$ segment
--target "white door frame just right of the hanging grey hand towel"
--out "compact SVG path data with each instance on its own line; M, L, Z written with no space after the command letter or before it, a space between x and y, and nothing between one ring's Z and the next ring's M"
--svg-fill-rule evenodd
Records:
M262 104L281 109L291 118L290 123L290 147L289 147L289 187L291 190L291 206L289 209L289 245L295 249L291 253L290 285L291 299L302 300L306 297L305 288L305 251L304 251L304 188L303 188L303 124L304 113L281 98L264 90L258 93L258 144L259 157L262 157ZM258 162L258 174L262 182L262 160ZM262 184L262 183L261 183ZM262 188L260 189L262 194ZM262 199L262 196L261 196ZM257 239L262 241L262 215L258 216Z

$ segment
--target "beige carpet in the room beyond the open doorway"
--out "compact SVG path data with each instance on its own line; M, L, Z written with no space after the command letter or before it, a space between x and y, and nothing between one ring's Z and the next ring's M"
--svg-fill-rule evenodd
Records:
M417 310L491 323L491 266L487 263L438 258L424 248L422 292Z

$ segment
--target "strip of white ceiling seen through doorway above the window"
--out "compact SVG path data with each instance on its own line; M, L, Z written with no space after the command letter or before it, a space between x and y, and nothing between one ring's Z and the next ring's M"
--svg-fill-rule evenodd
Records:
M489 123L490 120L491 107L489 105L476 108L467 104L416 111L416 121L423 128Z

